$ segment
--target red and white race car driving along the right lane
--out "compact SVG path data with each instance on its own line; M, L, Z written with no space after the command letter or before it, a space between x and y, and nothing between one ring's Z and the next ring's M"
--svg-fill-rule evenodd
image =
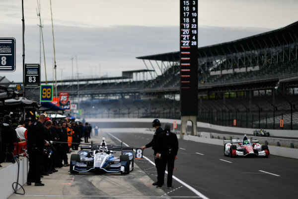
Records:
M224 155L230 157L262 156L267 158L270 155L268 146L261 146L258 142L258 140L252 140L252 138L247 139L246 135L244 135L243 140L224 140Z

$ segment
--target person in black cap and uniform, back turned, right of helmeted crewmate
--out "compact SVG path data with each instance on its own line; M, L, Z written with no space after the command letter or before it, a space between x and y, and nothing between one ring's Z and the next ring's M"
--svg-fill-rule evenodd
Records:
M175 133L171 132L171 126L169 123L164 125L164 132L160 133L156 141L156 155L157 159L160 159L160 172L158 175L158 185L156 188L161 188L164 180L164 171L167 165L167 188L171 189L172 176L174 169L174 161L178 151L178 139Z

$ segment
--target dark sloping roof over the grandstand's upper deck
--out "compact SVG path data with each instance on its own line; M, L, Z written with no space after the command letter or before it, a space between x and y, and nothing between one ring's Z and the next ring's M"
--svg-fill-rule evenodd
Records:
M238 53L243 51L250 51L258 48L268 48L269 46L279 46L295 42L298 37L298 21L286 27L272 30L269 32L257 34L242 39L215 44L211 46L204 46L198 48L199 57L224 55L228 53ZM144 60L158 60L158 61L179 61L180 52L170 52L164 54L148 55L136 57Z

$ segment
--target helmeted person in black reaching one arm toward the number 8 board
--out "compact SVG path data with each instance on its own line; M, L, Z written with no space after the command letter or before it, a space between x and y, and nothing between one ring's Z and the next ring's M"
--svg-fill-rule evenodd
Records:
M160 121L158 119L154 119L152 121L152 126L155 128L155 132L153 135L153 139L151 140L151 142L149 142L148 144L146 144L145 146L142 146L141 149L144 150L146 148L152 147L153 149L153 154L154 156L156 155L156 140L157 137L160 133L163 132L162 128L160 127ZM155 162L155 167L156 167L156 171L157 171L157 182L154 182L152 185L158 185L158 176L159 176L159 172L160 172L160 161L159 158L154 158L154 162Z

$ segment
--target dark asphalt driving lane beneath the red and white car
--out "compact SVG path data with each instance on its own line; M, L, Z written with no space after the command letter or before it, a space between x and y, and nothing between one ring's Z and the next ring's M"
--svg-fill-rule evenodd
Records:
M149 143L153 136L153 132L152 135L111 134L134 147ZM173 175L209 199L297 197L297 159L280 156L230 158L224 156L224 146L181 139L178 141L179 151ZM151 148L144 150L144 156L153 161ZM142 164L138 163L138 166L145 172L148 168L146 161ZM155 176L151 178L154 180ZM189 189L175 180L173 180L173 186L182 187L169 193L169 197L194 196Z

